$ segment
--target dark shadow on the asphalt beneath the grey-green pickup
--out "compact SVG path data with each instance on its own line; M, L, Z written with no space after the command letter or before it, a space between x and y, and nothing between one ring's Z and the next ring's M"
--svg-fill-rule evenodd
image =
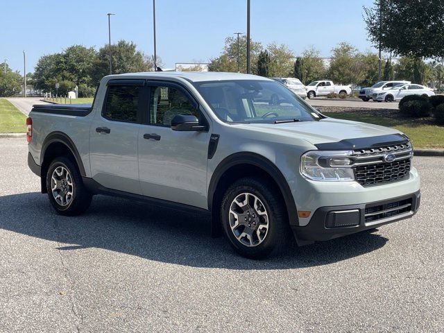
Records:
M223 237L210 236L209 215L196 215L95 196L83 216L60 216L48 198L37 192L0 196L0 228L57 241L59 250L83 248L135 255L144 259L194 267L287 269L332 264L386 244L388 239L362 232L298 248L280 257L250 260L239 257Z

